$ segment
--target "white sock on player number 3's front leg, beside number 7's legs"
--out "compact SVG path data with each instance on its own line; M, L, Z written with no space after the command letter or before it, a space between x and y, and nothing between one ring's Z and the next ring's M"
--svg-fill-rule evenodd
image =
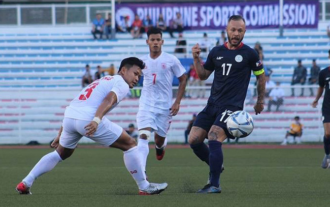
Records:
M149 182L146 179L146 173L141 164L141 155L137 146L124 152L124 163L128 172L138 184L139 189L144 190L148 188Z

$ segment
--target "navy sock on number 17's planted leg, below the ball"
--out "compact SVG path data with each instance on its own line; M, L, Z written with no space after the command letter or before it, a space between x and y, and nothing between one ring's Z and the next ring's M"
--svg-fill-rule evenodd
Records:
M210 172L211 172L211 185L219 187L219 179L221 173L221 167L223 163L223 155L221 149L222 143L219 141L209 141L210 147Z

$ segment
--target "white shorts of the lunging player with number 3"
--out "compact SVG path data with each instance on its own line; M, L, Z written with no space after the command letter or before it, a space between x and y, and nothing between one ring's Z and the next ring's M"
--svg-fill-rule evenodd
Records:
M75 149L81 137L85 136L86 130L84 128L89 123L90 121L64 118L62 123L63 131L59 138L59 144L65 148ZM120 126L104 118L100 125L98 125L93 136L86 137L104 146L110 146L120 137L122 131L123 129Z

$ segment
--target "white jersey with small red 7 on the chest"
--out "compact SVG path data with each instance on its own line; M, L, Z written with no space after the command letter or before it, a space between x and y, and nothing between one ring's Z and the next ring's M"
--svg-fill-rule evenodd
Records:
M169 114L174 75L180 77L186 70L176 56L166 52L162 52L156 59L146 54L141 60L146 67L142 70L144 78L139 110Z

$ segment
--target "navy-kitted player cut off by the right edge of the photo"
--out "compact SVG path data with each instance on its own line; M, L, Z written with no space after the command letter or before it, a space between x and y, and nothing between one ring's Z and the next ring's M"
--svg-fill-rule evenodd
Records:
M330 58L330 50L328 51ZM318 75L318 90L316 98L312 103L312 106L315 108L317 106L318 100L321 98L323 91L324 98L322 104L322 122L324 127L324 158L321 164L322 168L330 167L330 67L326 67L320 71Z

